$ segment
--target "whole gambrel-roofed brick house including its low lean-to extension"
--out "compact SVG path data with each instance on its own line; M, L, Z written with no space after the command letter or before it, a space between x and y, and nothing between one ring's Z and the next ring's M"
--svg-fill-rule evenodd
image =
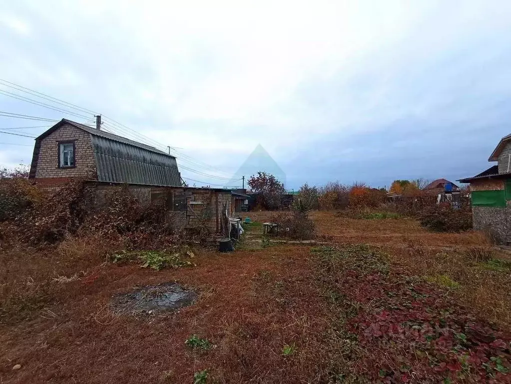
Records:
M176 157L143 143L62 119L35 139L29 178L45 189L84 179L104 204L108 191L127 187L143 204L162 201L184 228L207 225L228 234L235 197L229 189L183 187Z

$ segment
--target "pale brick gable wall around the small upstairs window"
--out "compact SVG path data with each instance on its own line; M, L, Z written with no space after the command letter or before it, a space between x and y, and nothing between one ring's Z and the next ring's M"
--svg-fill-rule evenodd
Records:
M59 141L75 141L75 168L59 168ZM72 125L63 125L41 140L36 168L37 178L87 177L96 178L96 162L90 133Z

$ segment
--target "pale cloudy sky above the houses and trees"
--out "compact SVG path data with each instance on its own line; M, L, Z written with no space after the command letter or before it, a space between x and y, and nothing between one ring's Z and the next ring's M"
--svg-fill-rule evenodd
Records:
M455 180L491 166L511 132L511 2L6 1L0 78L182 148L218 177L261 144L289 189ZM3 95L0 110L85 121ZM0 142L20 144L0 144L0 166L30 164L32 139Z

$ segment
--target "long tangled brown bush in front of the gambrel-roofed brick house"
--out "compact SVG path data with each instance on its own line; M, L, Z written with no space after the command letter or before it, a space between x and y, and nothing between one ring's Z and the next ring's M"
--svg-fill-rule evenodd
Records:
M162 202L144 205L127 188L106 195L102 205L96 197L81 180L44 192L27 179L0 178L2 246L13 239L41 245L89 234L127 249L169 249L180 243L179 212L168 215Z

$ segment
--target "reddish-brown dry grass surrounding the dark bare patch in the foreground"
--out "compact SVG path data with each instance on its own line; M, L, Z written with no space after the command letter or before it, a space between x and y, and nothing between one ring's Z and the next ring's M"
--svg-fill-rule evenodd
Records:
M202 369L220 381L318 382L326 319L304 252L275 247L205 253L195 268L160 272L107 264L80 280L46 284L48 296L30 319L2 327L4 382L155 382L164 373L169 382L191 382ZM167 317L138 319L108 308L115 293L174 280L198 289L195 305ZM184 341L192 334L216 347L190 352ZM284 358L284 345L293 343L296 352ZM22 369L11 372L14 364Z

